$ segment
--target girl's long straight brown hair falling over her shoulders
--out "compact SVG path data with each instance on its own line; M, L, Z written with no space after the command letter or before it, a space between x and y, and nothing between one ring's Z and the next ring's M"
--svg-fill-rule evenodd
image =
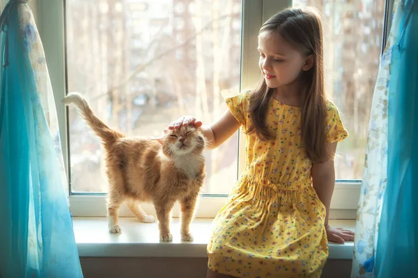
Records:
M273 15L259 31L261 33L279 32L282 38L305 56L313 56L314 65L301 73L302 81L302 140L307 156L312 162L327 161L330 154L326 147L325 124L327 118L327 97L325 95L323 62L323 27L318 10L314 8L286 10ZM251 124L248 134L255 133L261 140L272 140L266 125L268 104L274 89L268 88L262 79L251 92L249 114Z

